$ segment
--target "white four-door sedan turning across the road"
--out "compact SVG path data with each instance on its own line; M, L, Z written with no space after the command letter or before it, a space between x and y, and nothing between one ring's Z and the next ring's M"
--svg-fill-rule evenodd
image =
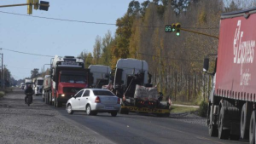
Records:
M109 112L113 117L119 112L120 99L108 89L82 89L67 101L68 114L86 112L96 115L97 112Z

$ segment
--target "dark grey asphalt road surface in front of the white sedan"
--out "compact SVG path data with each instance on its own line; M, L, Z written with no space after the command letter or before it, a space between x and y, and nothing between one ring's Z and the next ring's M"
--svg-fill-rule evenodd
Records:
M34 96L36 101L41 99L41 96ZM117 117L111 117L110 113L88 116L85 112L74 112L73 115L69 115L64 106L52 108L61 112L61 117L66 119L69 124L87 127L108 140L119 144L248 143L248 141L219 140L217 137L210 137L207 133L207 126L184 123L174 118L159 118L154 115L131 112L129 115L118 113Z

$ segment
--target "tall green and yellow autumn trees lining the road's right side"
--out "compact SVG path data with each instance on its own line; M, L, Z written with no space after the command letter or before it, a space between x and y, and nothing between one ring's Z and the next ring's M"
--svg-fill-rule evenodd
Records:
M164 27L179 22L183 28L218 36L220 14L252 6L255 0L133 0L116 20L116 32L97 36L93 52L81 52L79 57L84 58L85 67L114 68L120 58L146 60L154 84L160 82L161 73L165 95L175 101L203 99L211 87L211 78L201 72L203 59L217 54L218 40L183 31L177 37Z

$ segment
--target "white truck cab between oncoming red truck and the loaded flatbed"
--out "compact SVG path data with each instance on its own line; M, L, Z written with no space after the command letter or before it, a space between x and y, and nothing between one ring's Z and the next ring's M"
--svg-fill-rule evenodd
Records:
M102 85L109 84L111 68L103 65L90 65L88 67L92 76L92 87L102 89Z

